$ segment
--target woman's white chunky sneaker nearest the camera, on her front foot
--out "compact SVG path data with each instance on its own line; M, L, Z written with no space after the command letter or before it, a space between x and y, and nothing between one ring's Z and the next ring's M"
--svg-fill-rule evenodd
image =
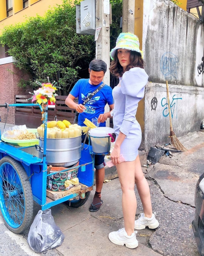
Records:
M109 233L108 238L112 243L117 245L124 245L128 248L136 248L138 247L138 240L136 239L137 231L134 231L131 236L127 235L125 229L119 229L118 231L114 231Z

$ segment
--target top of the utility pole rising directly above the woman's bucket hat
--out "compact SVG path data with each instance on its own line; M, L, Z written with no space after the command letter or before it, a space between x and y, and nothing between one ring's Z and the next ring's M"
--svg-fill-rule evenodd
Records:
M135 32L135 0L122 1L122 32Z

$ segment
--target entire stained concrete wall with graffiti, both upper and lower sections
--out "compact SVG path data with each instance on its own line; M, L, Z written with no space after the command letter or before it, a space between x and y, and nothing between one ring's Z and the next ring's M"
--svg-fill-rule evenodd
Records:
M169 141L166 80L177 137L198 130L204 119L204 24L171 1L144 0L142 49L151 82L144 110L148 151Z

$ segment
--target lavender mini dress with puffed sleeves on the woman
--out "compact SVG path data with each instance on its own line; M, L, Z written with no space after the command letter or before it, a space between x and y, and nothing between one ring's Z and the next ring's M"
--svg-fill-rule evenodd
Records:
M141 143L141 128L135 118L138 102L144 97L148 75L144 69L135 67L120 78L120 86L113 89L114 109L112 111L116 140L121 131L126 135L120 147L120 154L126 161L134 161Z

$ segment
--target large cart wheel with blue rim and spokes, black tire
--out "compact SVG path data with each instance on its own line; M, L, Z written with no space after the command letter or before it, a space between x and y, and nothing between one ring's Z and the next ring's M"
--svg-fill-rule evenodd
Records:
M0 214L15 234L23 233L33 217L33 195L23 166L12 157L0 160Z

